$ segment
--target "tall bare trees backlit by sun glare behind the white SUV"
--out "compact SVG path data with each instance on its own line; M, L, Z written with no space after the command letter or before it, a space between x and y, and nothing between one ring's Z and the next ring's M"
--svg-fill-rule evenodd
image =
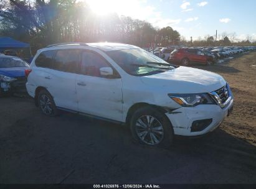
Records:
M127 16L98 16L86 1L2 0L0 35L29 42L35 49L59 42L122 42L140 47L176 45L180 34Z

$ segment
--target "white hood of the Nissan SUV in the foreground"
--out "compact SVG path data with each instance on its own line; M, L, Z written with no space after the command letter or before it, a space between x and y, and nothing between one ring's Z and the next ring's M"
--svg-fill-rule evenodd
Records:
M166 88L168 93L209 93L226 83L224 78L216 73L189 67L141 76L141 81L154 88Z

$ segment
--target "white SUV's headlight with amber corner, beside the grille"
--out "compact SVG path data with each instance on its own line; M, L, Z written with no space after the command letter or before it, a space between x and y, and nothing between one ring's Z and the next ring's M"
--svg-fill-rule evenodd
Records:
M213 99L207 93L199 94L168 94L176 103L185 107L194 107L199 104L214 104Z

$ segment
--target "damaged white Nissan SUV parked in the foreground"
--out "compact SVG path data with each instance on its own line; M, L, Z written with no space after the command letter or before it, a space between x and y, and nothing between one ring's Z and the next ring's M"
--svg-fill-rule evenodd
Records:
M136 141L156 146L213 131L233 105L222 76L126 44L49 45L37 51L26 87L44 114L62 109L128 124Z

